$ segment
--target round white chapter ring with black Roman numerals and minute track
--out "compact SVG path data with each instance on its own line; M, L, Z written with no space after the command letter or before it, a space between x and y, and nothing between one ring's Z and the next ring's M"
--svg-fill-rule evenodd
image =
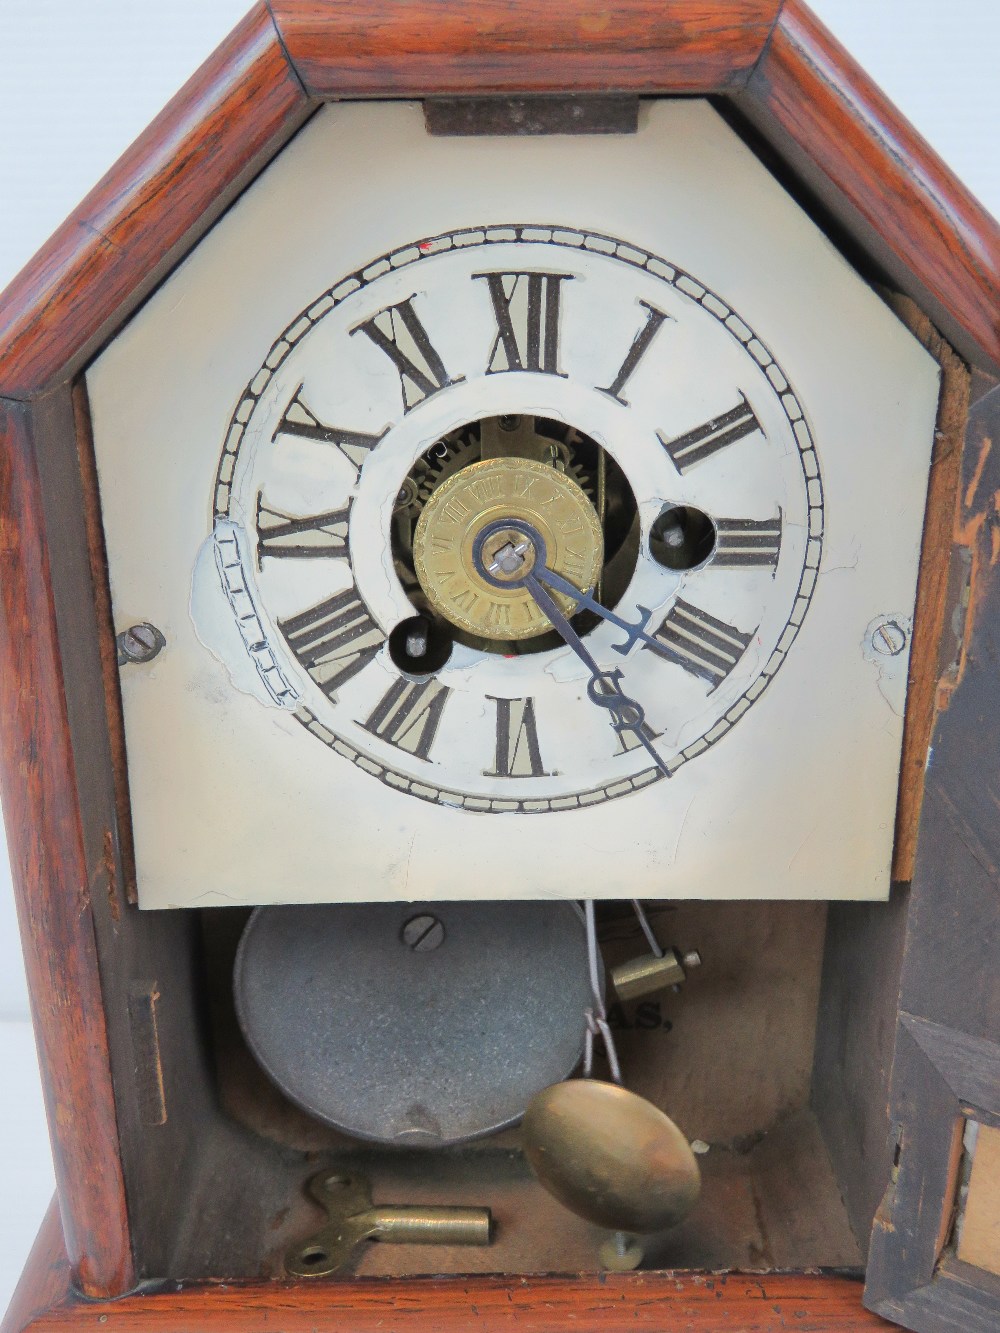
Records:
M623 672L659 765L593 706L561 641L516 653L512 625L433 672L393 660L389 636L420 605L387 557L401 501L419 513L447 476L460 484L497 420L548 432L552 468L595 507L616 468L636 548L616 613L647 637L623 655L621 628L597 621L584 639ZM516 463L509 477L521 485ZM495 608L455 581L449 533L504 504L460 495L459 527L436 537L457 589L439 609L459 628ZM747 713L807 613L823 488L803 404L723 296L625 240L485 225L375 259L276 339L227 432L215 513L247 649L317 740L425 800L543 812L669 776ZM511 607L536 612L527 593Z

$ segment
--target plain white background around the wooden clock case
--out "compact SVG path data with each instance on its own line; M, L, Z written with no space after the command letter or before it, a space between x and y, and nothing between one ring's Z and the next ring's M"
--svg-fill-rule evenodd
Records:
M1000 9L989 0L812 0L812 7L1000 215L993 69ZM0 288L247 8L247 0L0 0ZM52 1182L1 854L0 866L3 1310Z

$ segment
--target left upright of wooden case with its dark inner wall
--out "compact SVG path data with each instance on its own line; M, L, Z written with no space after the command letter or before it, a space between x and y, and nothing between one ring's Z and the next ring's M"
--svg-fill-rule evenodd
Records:
M65 388L9 411L31 421L37 469L35 496L16 509L19 548L31 549L39 523L48 551L48 605L24 584L32 633L36 643L49 637L61 680L36 681L24 661L5 657L3 678L19 684L21 706L31 702L60 728L21 741L49 788L29 786L25 812L11 808L20 794L9 772L17 732L4 728L5 813L15 864L25 841L37 848L36 864L19 876L17 901L43 1076L60 1082L49 1125L67 1234L81 1233L75 1269L83 1290L116 1296L169 1272L176 1220L192 1177L205 1169L216 1112L199 1036L199 930L192 914L140 914L124 892L125 812L109 725L120 717L117 665L85 393ZM9 488L4 495L15 503ZM49 810L73 821L79 845L47 826ZM111 1265L112 1245L127 1262Z

